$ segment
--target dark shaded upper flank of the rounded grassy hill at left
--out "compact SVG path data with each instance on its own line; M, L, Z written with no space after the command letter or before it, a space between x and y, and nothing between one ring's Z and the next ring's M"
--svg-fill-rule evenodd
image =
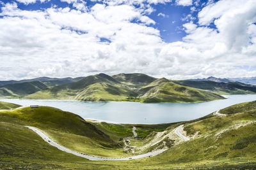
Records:
M31 125L40 129L69 132L100 141L111 141L103 132L78 115L47 106L1 111L0 120L20 125Z

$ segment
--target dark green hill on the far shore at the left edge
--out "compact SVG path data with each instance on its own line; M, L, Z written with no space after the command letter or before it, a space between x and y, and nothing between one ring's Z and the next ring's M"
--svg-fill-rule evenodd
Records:
M44 90L46 87L47 86L41 81L8 84L0 87L0 96L26 96L28 94L33 94L40 90Z

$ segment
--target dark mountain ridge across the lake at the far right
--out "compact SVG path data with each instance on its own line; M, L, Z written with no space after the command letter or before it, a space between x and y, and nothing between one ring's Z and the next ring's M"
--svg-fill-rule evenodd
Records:
M195 80L175 80L179 85L194 87L196 89L209 90L216 94L255 94L256 86L232 81L228 83L216 81L195 81Z

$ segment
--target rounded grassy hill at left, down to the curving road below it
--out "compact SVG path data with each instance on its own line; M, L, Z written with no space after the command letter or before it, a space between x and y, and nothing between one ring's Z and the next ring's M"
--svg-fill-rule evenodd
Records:
M113 141L95 125L67 111L47 106L2 110L0 122L38 127L47 132L54 141L80 152L108 157L124 156L122 145L118 141Z

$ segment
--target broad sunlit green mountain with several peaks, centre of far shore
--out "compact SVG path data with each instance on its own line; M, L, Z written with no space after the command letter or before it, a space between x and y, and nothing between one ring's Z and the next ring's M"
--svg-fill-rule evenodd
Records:
M163 81L164 80L164 81ZM97 74L82 80L49 87L27 99L76 99L80 101L198 102L224 97L178 85L145 74Z

